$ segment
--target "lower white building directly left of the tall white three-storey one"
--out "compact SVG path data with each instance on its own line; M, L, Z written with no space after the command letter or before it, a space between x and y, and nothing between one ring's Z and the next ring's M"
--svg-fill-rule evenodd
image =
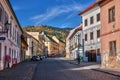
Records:
M77 54L83 56L82 51L82 25L70 31L66 41L66 53L70 53L71 59L76 59Z

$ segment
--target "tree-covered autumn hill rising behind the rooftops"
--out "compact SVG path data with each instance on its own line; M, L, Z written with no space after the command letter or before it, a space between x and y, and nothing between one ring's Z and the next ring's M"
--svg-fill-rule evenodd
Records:
M65 42L65 39L72 28L56 28L52 26L27 26L23 27L24 31L28 32L42 32L44 31L49 37L56 36L59 40Z

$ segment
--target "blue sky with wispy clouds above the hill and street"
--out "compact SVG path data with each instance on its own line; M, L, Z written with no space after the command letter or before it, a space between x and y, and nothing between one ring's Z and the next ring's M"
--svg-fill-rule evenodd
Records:
M81 24L79 12L95 0L10 0L22 27L49 25L74 28Z

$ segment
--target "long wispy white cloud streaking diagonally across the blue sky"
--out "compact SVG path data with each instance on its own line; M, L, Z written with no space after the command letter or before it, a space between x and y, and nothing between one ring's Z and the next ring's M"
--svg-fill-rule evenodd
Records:
M78 5L78 4L73 4L73 5L62 5L62 6L54 6L52 8L47 9L45 13L35 15L30 18L33 22L35 22L35 25L39 25L44 21L49 21L51 19L54 19L61 14L66 14L66 13L72 13L72 12L77 12L83 9L83 5ZM70 14L70 17L73 15Z

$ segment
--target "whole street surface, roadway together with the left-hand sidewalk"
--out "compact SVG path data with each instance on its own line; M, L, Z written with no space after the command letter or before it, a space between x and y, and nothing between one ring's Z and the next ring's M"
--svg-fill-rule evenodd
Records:
M120 80L120 76L70 64L62 58L28 61L0 71L0 80Z

